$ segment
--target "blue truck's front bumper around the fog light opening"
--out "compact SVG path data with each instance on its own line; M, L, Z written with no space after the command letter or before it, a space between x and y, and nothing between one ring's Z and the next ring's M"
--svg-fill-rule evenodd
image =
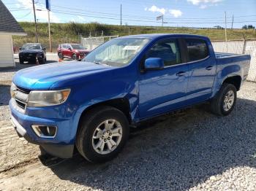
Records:
M11 122L18 136L23 137L31 144L38 144L50 155L61 158L72 157L74 144L68 138L70 133L68 131L65 132L67 129L65 127L69 127L69 120L44 119L22 114L13 107L12 101L10 101L10 109L12 112ZM61 128L61 130L59 130L54 138L42 138L37 136L31 128L33 124L56 125L58 128Z

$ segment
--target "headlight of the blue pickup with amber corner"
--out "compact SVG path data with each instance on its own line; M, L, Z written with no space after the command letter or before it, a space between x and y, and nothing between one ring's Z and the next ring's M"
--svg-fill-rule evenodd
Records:
M64 103L70 90L32 90L27 106L55 106Z

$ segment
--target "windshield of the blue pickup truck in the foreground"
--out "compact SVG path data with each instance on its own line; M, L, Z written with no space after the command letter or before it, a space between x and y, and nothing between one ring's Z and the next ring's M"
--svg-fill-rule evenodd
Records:
M113 39L97 47L83 61L118 67L126 66L148 41L147 38Z

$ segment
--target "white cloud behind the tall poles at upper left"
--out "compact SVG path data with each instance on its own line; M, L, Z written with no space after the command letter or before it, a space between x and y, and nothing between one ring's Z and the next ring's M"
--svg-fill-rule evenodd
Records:
M33 4L31 4L31 0L18 0L18 4L20 4L20 7L26 8L26 9L33 9ZM48 20L48 12L45 9L45 6L42 4L34 4L35 9L41 9L42 11L36 11L37 19L39 20ZM51 23L60 23L59 17L56 17L56 15L53 12L50 12L50 22Z

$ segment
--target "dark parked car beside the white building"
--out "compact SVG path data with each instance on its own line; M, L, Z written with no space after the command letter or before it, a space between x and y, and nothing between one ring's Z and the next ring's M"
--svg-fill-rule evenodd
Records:
M40 64L46 62L45 47L42 47L40 43L26 43L20 47L19 60L20 64L24 62L36 63L38 60Z

